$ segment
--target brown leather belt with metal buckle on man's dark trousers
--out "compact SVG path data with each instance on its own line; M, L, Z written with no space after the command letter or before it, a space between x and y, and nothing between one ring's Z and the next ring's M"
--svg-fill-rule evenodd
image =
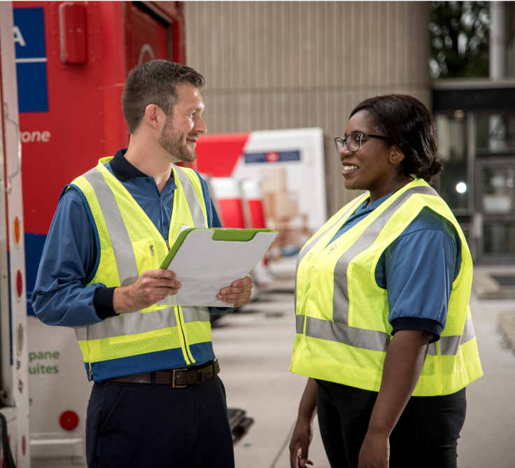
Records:
M213 367L215 374L213 374ZM213 361L213 364L208 364L200 369L174 369L173 371L157 371L155 372L155 383L160 385L171 385L174 388L186 387L194 383L201 383L209 381L216 374L220 373L220 364L218 359ZM134 374L132 376L111 378L111 382L121 383L153 383L152 372L145 374Z

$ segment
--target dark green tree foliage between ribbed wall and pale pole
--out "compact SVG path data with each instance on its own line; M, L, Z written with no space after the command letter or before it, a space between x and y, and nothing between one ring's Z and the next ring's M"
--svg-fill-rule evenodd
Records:
M489 1L431 1L432 78L488 76Z

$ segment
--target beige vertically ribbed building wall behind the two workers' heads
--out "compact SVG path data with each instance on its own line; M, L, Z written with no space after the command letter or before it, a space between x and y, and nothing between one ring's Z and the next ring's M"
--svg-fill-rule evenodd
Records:
M425 1L186 1L188 65L206 77L211 133L322 127L329 215L344 188L332 140L363 99L430 106Z

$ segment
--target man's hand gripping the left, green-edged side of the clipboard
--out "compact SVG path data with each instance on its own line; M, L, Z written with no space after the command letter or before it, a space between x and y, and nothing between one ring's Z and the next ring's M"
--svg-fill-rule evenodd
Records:
M177 294L181 283L173 271L164 269L145 271L132 285L116 288L113 307L116 313L139 311L160 302L167 295Z

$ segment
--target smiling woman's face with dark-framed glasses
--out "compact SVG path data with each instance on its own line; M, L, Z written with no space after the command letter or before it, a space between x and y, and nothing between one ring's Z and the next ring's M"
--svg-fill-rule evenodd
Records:
M348 121L345 136L355 133L381 135L370 124L367 111L355 113ZM392 183L400 176L398 163L403 159L402 156L397 161L399 158L395 157L395 153L398 155L398 150L388 148L383 140L366 136L361 139L361 149L355 153L345 145L340 153L345 187L348 190L374 192L379 187Z

